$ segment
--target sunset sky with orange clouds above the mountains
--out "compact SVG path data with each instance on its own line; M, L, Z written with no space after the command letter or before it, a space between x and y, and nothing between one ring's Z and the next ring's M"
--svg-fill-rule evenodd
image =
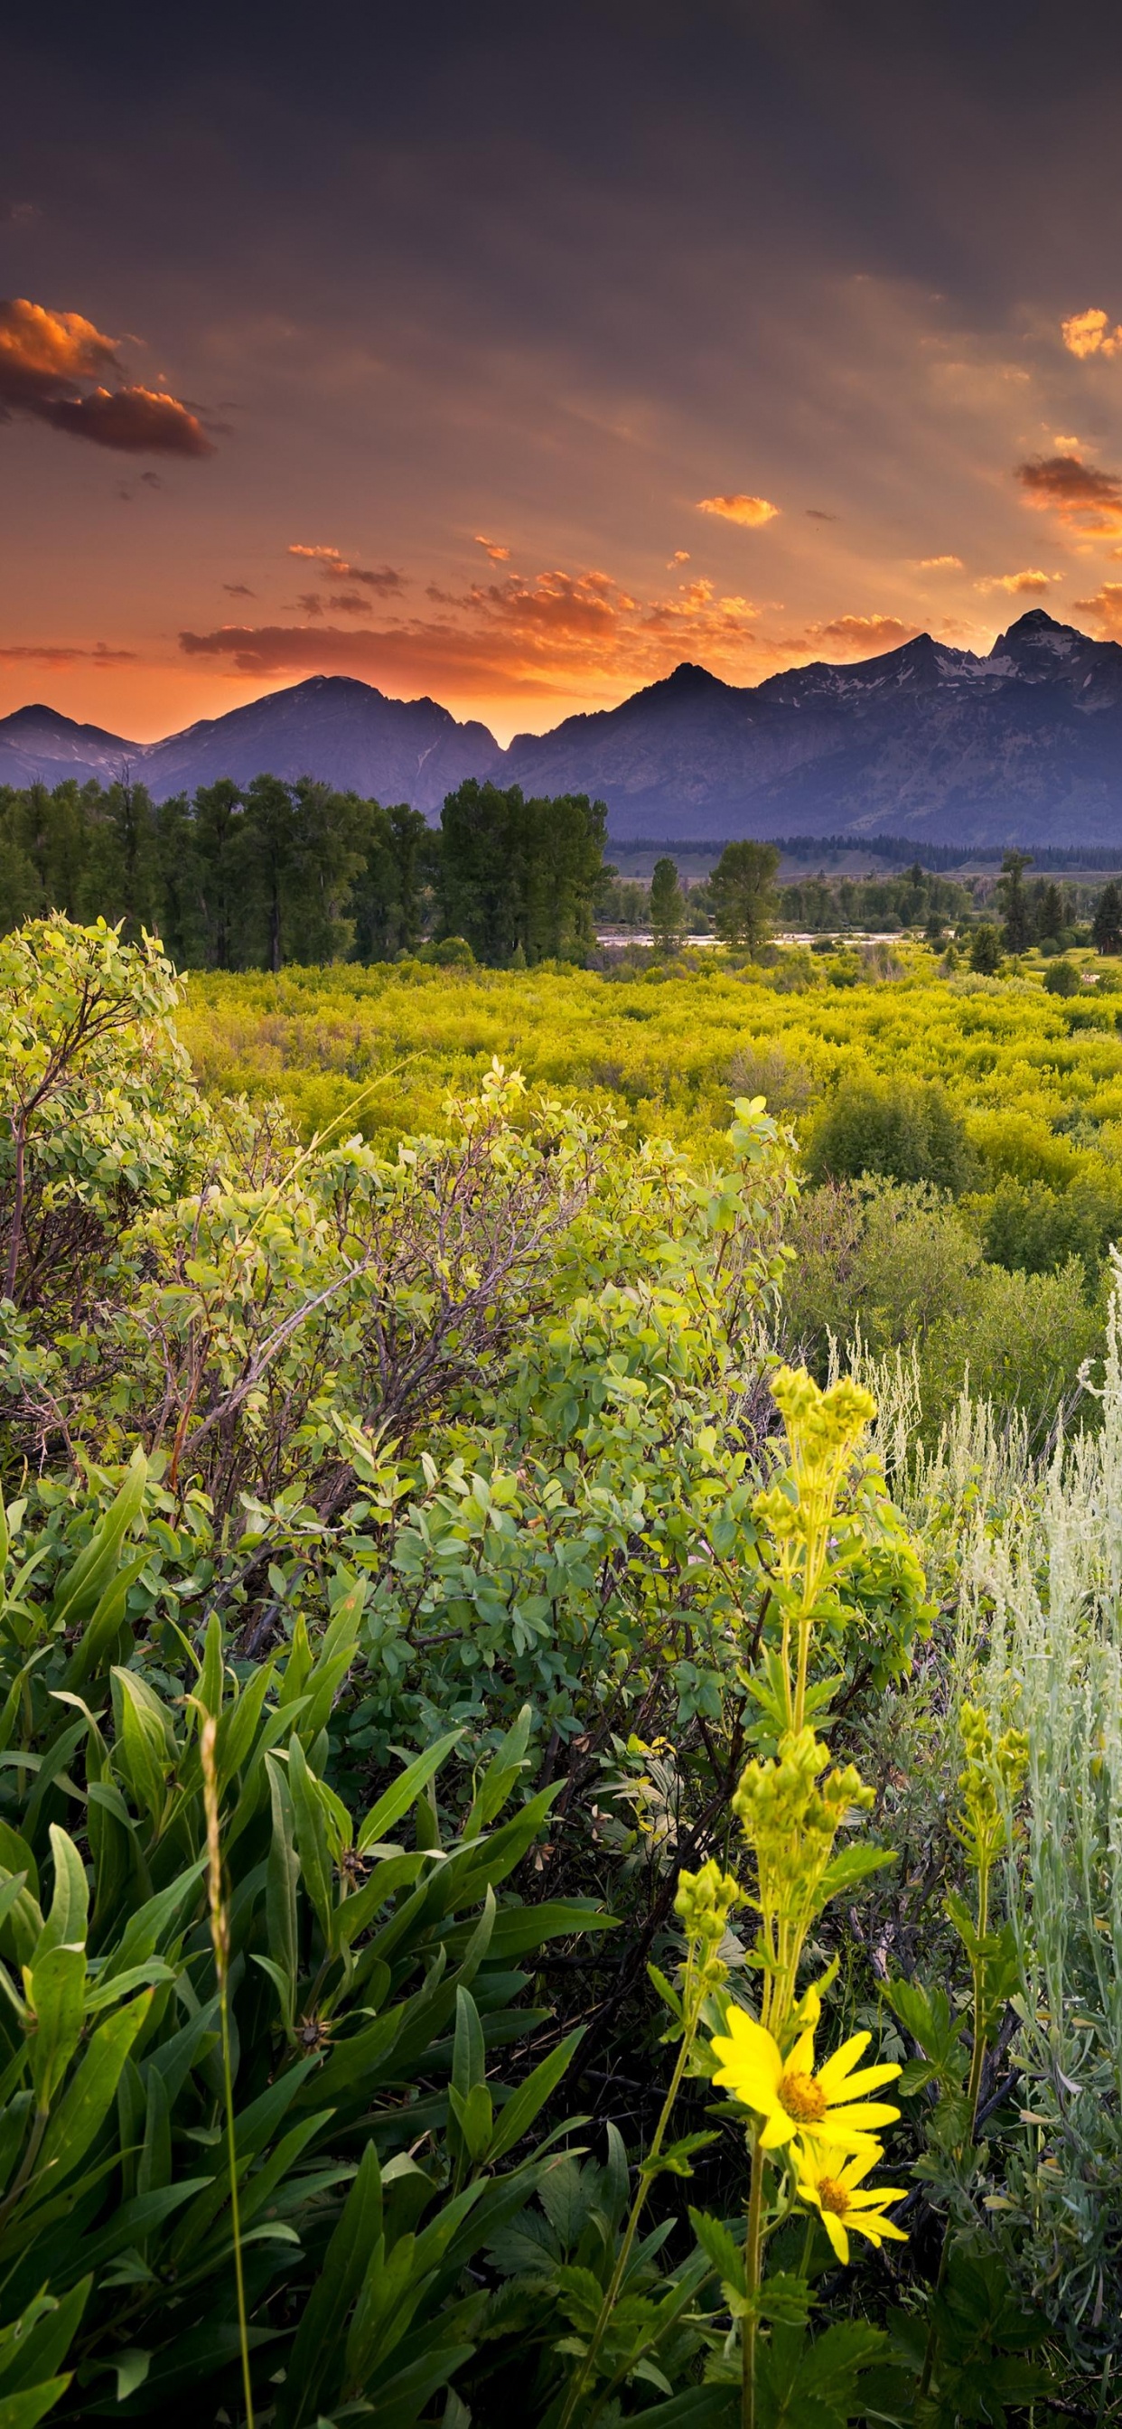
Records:
M1122 641L1117 7L19 15L0 714Z

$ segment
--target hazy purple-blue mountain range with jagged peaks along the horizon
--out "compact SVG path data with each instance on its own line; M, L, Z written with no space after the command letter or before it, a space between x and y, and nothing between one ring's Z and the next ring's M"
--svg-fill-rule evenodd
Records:
M1122 649L1035 607L988 656L918 634L855 666L731 685L678 666L617 709L508 751L435 700L311 675L158 743L56 709L0 719L0 785L109 782L155 799L219 775L316 775L425 816L466 775L588 792L629 838L891 833L937 843L1122 843Z

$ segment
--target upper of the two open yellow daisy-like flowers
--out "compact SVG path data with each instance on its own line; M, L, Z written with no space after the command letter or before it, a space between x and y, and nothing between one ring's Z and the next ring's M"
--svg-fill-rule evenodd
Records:
M794 2135L814 2135L833 2150L865 2150L869 2133L891 2125L899 2108L865 2099L882 2084L891 2084L899 2067L865 2067L852 2072L869 2048L869 2033L855 2033L840 2050L814 2070L814 2028L799 2033L789 2057L772 2040L755 2016L743 2006L729 2009L729 2031L714 2033L714 2053L721 2060L716 2082L763 2116L763 2150L780 2150Z

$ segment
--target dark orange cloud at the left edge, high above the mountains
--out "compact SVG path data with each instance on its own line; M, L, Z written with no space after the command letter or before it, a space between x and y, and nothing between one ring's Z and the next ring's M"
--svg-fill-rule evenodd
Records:
M119 372L114 338L75 311L46 311L27 296L0 301L0 420L27 413L68 437L119 454L214 454L199 415L163 389L104 389L83 381Z

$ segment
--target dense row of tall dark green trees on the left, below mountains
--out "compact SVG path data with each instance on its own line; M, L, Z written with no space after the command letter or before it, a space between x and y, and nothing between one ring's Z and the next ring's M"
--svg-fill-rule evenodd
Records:
M61 911L163 938L185 969L583 959L607 811L588 794L525 799L474 780L440 828L313 777L221 777L153 802L143 785L0 787L0 933Z

